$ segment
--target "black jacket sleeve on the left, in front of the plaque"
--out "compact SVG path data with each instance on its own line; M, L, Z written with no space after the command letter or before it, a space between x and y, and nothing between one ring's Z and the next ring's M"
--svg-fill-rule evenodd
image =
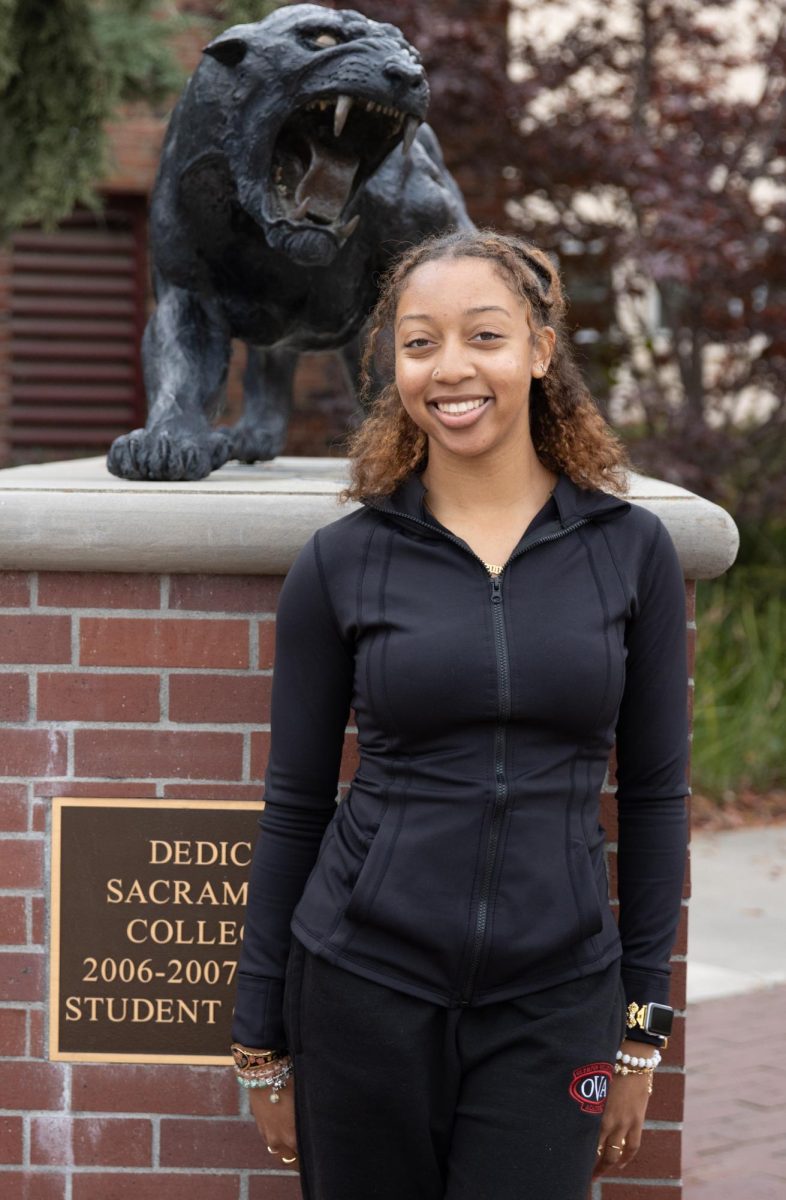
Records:
M265 808L259 818L238 970L233 1040L286 1049L289 923L336 810L354 674L325 587L316 534L278 601Z

